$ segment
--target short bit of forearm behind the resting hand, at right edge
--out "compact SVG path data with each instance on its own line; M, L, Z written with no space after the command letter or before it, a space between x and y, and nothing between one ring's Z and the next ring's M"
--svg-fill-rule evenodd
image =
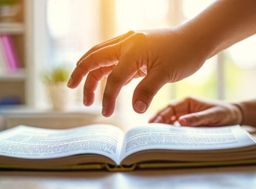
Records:
M243 125L256 127L256 100L238 103L244 114Z

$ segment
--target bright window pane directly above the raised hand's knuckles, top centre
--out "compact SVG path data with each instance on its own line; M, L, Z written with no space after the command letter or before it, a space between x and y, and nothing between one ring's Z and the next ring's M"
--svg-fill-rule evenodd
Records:
M116 0L117 33L167 27L168 0Z

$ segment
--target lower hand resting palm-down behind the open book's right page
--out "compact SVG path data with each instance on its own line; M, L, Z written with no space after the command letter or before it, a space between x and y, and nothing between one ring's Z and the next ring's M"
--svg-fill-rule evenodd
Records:
M237 105L204 101L195 97L172 103L158 112L149 122L182 126L224 126L236 125L243 121L243 114Z

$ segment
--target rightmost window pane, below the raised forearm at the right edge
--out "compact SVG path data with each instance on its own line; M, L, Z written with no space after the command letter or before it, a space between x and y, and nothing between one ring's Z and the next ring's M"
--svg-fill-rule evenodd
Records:
M226 58L226 98L240 101L256 97L256 35L229 48Z

